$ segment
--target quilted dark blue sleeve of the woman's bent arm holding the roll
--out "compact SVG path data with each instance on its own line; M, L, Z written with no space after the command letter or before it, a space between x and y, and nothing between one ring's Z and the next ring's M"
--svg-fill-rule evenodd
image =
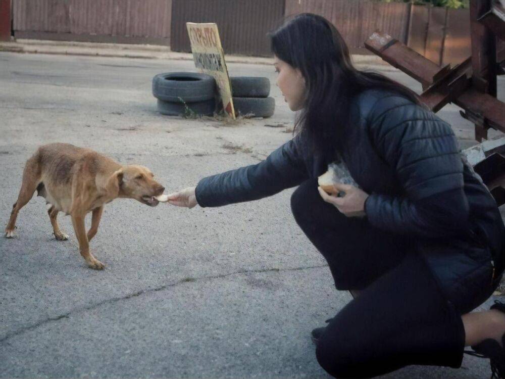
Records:
M407 99L377 101L368 115L377 153L394 168L401 196L370 194L369 221L379 228L429 238L468 227L463 162L450 126Z

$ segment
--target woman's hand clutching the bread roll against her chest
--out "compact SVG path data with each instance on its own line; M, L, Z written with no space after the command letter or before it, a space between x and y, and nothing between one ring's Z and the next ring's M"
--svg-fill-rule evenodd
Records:
M343 194L342 197L328 195L323 188L318 187L319 194L327 203L333 204L340 213L347 217L357 217L365 215L365 201L368 194L360 188L348 184L334 183L336 194Z

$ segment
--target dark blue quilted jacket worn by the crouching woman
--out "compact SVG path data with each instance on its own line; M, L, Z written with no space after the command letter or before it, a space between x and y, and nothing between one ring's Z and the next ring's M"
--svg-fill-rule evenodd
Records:
M505 254L503 223L487 188L464 163L450 125L382 90L366 90L353 104L342 158L370 194L370 223L411 235L449 287L472 273L491 277L491 264L496 282ZM308 151L296 136L259 164L204 178L197 202L216 207L256 200L316 178L330 162ZM444 246L451 252L440 254Z

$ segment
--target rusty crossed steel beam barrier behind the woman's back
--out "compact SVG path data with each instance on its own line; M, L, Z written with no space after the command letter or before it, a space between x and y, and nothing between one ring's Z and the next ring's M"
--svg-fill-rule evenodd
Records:
M503 41L497 37L504 39L505 10L497 0L471 0L470 23L472 55L452 69L438 66L385 33L373 33L365 46L421 82L421 99L433 112L447 103L463 108L461 116L474 123L475 139L481 142L489 128L505 133L505 104L496 99L496 75L505 62ZM505 150L505 138L499 144ZM505 151L486 154L474 165L498 205L505 203Z

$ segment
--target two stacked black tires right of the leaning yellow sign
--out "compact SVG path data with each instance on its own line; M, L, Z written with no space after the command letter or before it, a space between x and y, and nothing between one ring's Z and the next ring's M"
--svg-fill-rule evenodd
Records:
M248 117L270 117L275 111L270 94L270 80L265 77L230 77L235 114Z

